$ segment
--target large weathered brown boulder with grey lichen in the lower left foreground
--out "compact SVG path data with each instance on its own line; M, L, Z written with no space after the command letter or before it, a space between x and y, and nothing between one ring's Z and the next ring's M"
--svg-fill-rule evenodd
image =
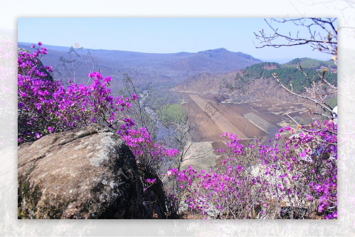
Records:
M19 218L151 219L153 210L143 202L154 200L144 200L135 157L106 126L18 146ZM164 200L154 208L164 210Z

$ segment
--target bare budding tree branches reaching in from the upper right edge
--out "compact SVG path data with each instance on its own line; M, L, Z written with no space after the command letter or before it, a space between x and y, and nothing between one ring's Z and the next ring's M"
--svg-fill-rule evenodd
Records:
M283 18L282 20L271 18L270 21L265 21L271 28L272 33L267 35L264 29L260 30L258 33L254 32L255 37L260 43L260 46L257 46L257 48L263 48L266 46L279 48L282 46L310 45L313 50L319 50L323 53L333 55L331 58L334 61L334 64L337 65L337 18ZM301 33L300 31L297 31L295 34L291 32L283 33L279 28L273 26L274 23L295 24L300 30L304 31ZM306 34L308 34L307 37L305 36ZM337 85L331 84L326 78L327 71L337 72L332 68L328 68L324 69L321 73L314 72L313 77L309 77L308 72L305 72L301 65L299 65L297 69L304 74L306 81L309 82L309 86L306 86L305 83L302 84L304 90L303 93L294 92L292 84L290 84L289 87L284 85L277 73L273 73L272 76L289 93L297 97L311 100L316 106L323 109L323 112L313 112L311 109L308 110L311 115L322 115L329 119L334 117L334 115L337 115L337 113L333 111L333 108L327 104L327 101L329 97L337 95L338 88ZM294 119L293 121L296 122ZM297 123L297 125L299 125L299 123Z

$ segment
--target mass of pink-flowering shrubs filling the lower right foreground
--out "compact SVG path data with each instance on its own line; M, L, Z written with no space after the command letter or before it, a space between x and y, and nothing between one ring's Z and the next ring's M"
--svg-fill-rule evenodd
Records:
M244 146L236 135L222 134L227 149L218 150L220 171L171 169L174 197L215 218L337 218L337 125L312 126L291 137L293 129L280 129L288 132L284 147L257 139Z

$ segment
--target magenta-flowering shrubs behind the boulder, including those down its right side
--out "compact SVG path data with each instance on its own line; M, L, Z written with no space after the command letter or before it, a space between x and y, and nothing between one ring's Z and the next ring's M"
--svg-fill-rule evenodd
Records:
M41 45L39 42L38 47ZM131 108L130 102L137 95L113 97L109 88L111 77L104 78L99 72L88 74L91 79L88 86L69 80L65 87L62 81L46 80L47 75L39 66L45 54L45 47L32 54L18 54L18 143L90 123L106 124L118 131L135 155L144 191L155 184L160 165L178 151L152 142L146 128L132 129L135 122L131 118L121 120L122 112ZM50 66L44 67L51 72Z

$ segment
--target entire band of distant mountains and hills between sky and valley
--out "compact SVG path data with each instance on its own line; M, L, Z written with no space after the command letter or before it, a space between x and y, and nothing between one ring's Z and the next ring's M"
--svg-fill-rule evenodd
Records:
M33 51L30 43L19 42L18 47ZM245 94L290 100L287 93L278 89L271 74L277 72L283 83L292 83L294 90L301 92L304 76L296 69L301 65L314 72L336 66L332 60L321 61L309 58L293 59L284 64L262 62L251 55L231 52L224 48L204 50L197 53L153 54L119 50L90 50L85 48L43 45L48 54L42 59L51 65L52 77L64 82L75 78L75 83L87 83L90 71L100 70L103 76L111 76L111 89L118 94L125 88L124 76L133 76L136 86L153 87L153 97L168 98L170 89L175 91L205 93L219 92ZM92 55L92 56L91 56ZM93 57L93 59L92 59ZM97 62L93 65L93 61ZM337 83L336 73L328 72L329 80ZM304 101L299 101L304 102Z

